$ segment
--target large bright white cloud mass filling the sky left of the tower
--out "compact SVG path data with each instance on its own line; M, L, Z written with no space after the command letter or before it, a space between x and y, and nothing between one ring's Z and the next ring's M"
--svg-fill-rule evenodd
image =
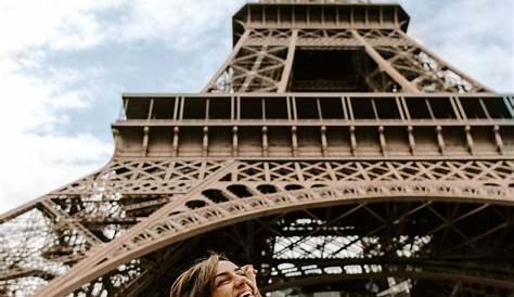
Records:
M46 68L51 49L80 49L99 42L86 1L3 1L0 4L0 214L98 168L112 144L77 131L61 131L68 112L92 101L80 85L103 69ZM70 20L74 25L70 25ZM77 129L79 130L79 129Z

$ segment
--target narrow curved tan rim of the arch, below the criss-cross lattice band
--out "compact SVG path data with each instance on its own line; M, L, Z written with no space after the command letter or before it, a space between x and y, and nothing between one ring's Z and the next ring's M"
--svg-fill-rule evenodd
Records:
M448 183L446 183L448 184ZM104 256L95 256L94 262L87 261L87 267L80 267L80 279L86 282L93 277L100 276L101 273L113 269L114 267L123 263L127 257L134 257L155 250L158 247L169 245L185 234L195 233L193 230L209 230L217 225L227 225L229 222L244 220L244 218L250 218L257 216L260 211L265 210L269 214L271 209L274 211L284 211L285 209L298 209L310 204L329 205L331 202L337 202L340 198L351 199L362 197L381 197L383 198L385 193L389 196L403 196L408 197L437 197L442 194L447 186L423 186L414 183L400 186L398 184L387 185L359 185L359 186L339 186L339 188L319 188L309 191L294 191L285 193L269 194L262 196L256 196L246 198L244 201L230 201L227 203L220 203L210 207L200 207L191 210L184 210L177 215L165 215L157 214L156 220L149 220L145 228L138 228L141 233L130 232L131 237L125 237L128 241L125 243L118 243L117 250L113 249L108 253L108 259ZM474 195L477 198L484 199L485 193L488 192L487 188L484 186L473 189L473 186L448 186L449 193L457 199L473 199ZM504 197L512 197L513 194L510 190L502 194ZM510 192L509 192L510 191ZM462 193L455 195L453 193ZM190 201L191 202L191 201ZM197 210L196 210L197 209ZM160 210L159 210L160 211ZM169 211L169 210L168 210ZM174 212L177 211L174 209ZM156 215L156 216L157 216ZM163 220L163 218L165 218ZM223 219L227 218L227 219ZM230 219L229 219L230 218ZM129 256L133 255L133 256ZM77 271L77 268L74 268ZM77 277L76 273L70 271L62 280L60 285L67 283L66 279L74 276ZM74 287L79 284L75 284ZM69 288L67 288L69 289Z

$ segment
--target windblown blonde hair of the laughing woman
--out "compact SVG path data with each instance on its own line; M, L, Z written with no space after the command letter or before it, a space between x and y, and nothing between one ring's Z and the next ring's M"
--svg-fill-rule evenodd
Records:
M211 254L182 272L171 285L170 297L210 297L218 262L224 256Z

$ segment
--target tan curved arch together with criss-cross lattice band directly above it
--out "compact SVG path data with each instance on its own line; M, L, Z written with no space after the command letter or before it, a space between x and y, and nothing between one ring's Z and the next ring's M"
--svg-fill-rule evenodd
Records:
M511 183L512 168L509 172L494 173L492 171L484 175L481 171L472 169L476 166L473 163L331 163L334 171L330 175L324 162L267 164L264 166L264 163L233 163L216 172L213 176L216 177L215 180L208 179L200 188L196 186L196 190L157 210L149 219L113 241L108 248L104 246L102 251L97 251L94 257L74 267L68 273L56 279L53 284L63 288L62 294L64 289L69 293L70 289L78 288L85 282L92 281L130 259L137 259L164 246L183 241L193 234L258 218L261 216L259 214L288 212L306 207L326 207L360 201L371 203L383 201L384 197L401 201L450 199L470 203L489 201L502 205L514 203L513 190L509 186L486 185L488 179L494 179L498 182L498 178L501 177L503 179L501 183ZM497 170L502 168L500 165L494 167ZM423 170L425 172L429 170L432 180L428 180L429 177L425 176ZM267 180L266 177L269 179ZM335 180L333 180L334 177L336 177ZM476 179L475 182L468 182L474 179ZM243 190L233 186L241 182L244 182L244 191L249 193L250 197L244 199L237 197L242 195L242 192L237 191ZM268 191L277 192L257 194L259 191L266 191L259 188L262 182L274 189L268 189ZM285 190L288 185L298 182L301 182L304 186L310 184L314 188ZM320 188L317 188L320 183ZM282 186L285 186L284 190L279 190ZM209 194L208 191L217 191L213 193L218 196L211 196L214 194ZM227 201L223 202L221 198ZM458 223L459 220L453 220L453 222ZM442 220L442 224L448 222ZM499 224L498 228L504 229L510 225L511 223L506 222ZM466 237L462 244L468 245L488 235L489 232L496 232L498 228L477 234L475 238ZM70 283L72 279L77 281ZM44 295L49 292L40 294Z

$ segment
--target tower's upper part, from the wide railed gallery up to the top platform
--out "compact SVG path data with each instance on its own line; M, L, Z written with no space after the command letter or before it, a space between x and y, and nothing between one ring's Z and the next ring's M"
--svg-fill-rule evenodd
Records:
M233 50L203 93L124 95L117 157L454 159L512 151L513 99L484 93L410 39L397 4L262 1L233 22Z

